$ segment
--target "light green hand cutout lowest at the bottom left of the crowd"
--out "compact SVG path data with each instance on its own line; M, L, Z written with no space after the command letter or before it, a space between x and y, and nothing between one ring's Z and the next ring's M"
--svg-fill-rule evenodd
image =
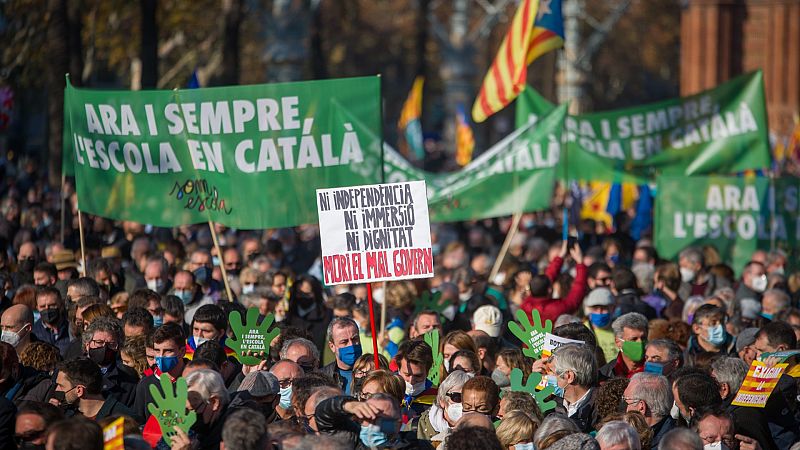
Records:
M153 403L147 404L147 410L158 420L164 442L172 443L171 438L176 434L176 426L184 433L189 434L189 428L197 420L197 415L194 411L186 412L186 399L189 396L186 379L178 378L173 389L169 376L163 374L161 375L161 390L159 391L155 384L151 384L150 395L153 396Z

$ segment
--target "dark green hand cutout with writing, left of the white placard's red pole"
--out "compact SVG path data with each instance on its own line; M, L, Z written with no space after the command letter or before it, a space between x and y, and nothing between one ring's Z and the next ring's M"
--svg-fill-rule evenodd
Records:
M258 308L247 310L246 322L242 322L242 315L239 311L231 311L228 315L228 322L233 330L233 337L225 340L228 348L239 355L239 362L246 366L255 366L269 355L269 344L277 335L280 334L278 327L272 327L275 316L270 313L264 317L261 325L258 322ZM259 355L264 356L259 356Z

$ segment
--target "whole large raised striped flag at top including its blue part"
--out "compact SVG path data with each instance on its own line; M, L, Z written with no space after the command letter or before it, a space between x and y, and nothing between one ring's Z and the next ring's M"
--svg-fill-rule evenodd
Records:
M525 89L528 64L564 45L561 0L523 0L472 106L472 119L483 122L508 106Z

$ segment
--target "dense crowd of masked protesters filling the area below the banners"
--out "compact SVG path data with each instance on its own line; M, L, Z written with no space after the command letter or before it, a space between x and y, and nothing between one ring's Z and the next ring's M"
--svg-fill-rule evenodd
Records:
M434 224L435 276L373 286L376 359L367 287L321 283L316 226L216 225L218 251L207 224L77 216L67 185L61 232L61 191L6 169L0 450L99 450L120 417L131 449L800 449L797 355L764 407L732 405L754 360L798 349L779 251L736 276L711 247L661 260L624 214L562 242L543 212L495 264L510 220ZM227 345L249 308L279 330L254 365ZM578 342L529 357L518 311ZM164 377L188 431L161 430Z

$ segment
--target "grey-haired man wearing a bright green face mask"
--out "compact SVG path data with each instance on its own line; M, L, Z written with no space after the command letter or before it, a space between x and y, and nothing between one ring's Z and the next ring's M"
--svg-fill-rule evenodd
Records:
M617 357L600 368L600 382L610 378L630 378L644 370L644 347L647 344L647 318L639 313L623 314L614 320L614 343Z

